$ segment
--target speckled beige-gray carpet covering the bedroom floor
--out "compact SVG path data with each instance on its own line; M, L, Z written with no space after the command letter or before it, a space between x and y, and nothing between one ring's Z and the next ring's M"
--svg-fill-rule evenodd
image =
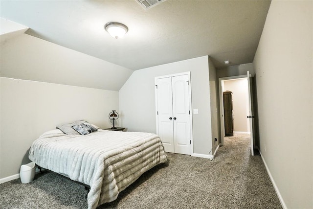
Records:
M213 161L168 153L169 163L144 173L99 207L118 209L281 209L260 156L250 156L247 135L225 138ZM1 209L85 209L84 186L53 173L30 184L0 185Z

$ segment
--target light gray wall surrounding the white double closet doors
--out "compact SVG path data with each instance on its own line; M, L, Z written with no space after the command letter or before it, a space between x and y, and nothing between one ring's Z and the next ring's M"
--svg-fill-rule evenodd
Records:
M135 70L119 91L122 125L129 131L156 133L155 77L190 71L194 152L208 155L212 149L208 57ZM191 111L193 112L193 111Z

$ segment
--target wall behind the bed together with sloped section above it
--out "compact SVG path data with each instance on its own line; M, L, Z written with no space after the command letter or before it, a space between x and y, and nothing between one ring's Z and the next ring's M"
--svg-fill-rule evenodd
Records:
M31 143L57 124L87 119L102 128L110 127L108 114L118 110L118 92L102 90L111 84L102 83L111 79L110 72L117 73L120 79L111 88L119 90L132 73L26 34L1 42L0 55L0 182L19 174L21 164L29 162ZM76 84L99 89L74 87Z

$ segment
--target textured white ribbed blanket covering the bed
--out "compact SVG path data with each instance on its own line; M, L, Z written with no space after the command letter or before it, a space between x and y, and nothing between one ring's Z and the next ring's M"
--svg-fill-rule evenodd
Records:
M107 130L86 136L44 134L33 142L29 159L89 185L89 209L112 202L142 173L167 161L157 135Z

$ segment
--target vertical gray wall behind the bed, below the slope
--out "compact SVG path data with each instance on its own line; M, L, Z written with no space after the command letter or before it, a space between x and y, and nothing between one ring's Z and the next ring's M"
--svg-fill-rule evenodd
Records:
M60 123L86 119L109 128L108 114L118 110L118 92L0 77L0 179L29 163L35 139Z

